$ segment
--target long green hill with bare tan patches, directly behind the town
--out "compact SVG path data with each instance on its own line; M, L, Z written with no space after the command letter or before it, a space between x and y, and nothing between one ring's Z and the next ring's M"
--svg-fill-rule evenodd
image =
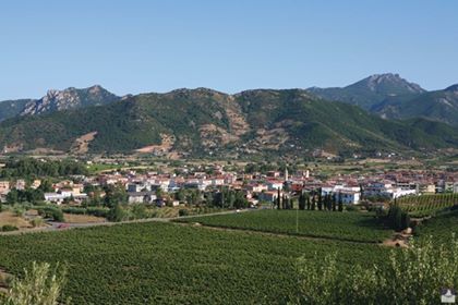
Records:
M306 90L227 95L206 88L130 96L105 106L0 123L4 151L303 156L458 147L455 129L424 119L389 121Z

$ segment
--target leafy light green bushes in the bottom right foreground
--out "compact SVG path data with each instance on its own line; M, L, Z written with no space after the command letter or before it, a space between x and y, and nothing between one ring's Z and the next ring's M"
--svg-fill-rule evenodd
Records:
M316 255L315 255L316 256ZM432 239L394 249L386 266L338 268L337 254L302 257L292 304L437 304L441 290L458 286L458 240Z

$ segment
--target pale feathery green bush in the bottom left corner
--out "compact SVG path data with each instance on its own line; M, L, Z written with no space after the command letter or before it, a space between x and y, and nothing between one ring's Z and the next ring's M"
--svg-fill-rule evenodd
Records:
M59 264L51 267L48 263L32 263L24 269L23 278L12 280L5 297L0 295L1 305L58 305L62 304L61 292L65 284L67 269ZM70 304L70 298L65 304Z

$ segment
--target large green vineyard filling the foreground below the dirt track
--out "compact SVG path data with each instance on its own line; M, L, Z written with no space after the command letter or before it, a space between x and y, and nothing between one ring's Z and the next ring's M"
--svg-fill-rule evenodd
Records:
M0 236L0 267L67 263L73 304L278 304L294 261L338 252L339 268L382 263L388 248L173 223L135 223Z

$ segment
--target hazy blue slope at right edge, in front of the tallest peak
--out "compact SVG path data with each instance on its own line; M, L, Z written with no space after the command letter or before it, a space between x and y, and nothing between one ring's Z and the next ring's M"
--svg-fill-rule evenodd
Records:
M458 85L408 99L386 99L371 111L388 119L427 118L458 126Z

